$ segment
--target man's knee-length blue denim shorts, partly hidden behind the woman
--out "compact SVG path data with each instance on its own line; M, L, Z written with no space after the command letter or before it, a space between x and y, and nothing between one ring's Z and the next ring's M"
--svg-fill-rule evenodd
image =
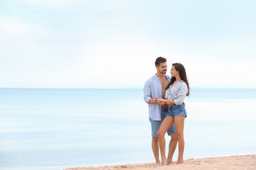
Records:
M161 122L163 121L163 119L165 118L165 116L167 114L167 111L168 111L167 108L162 108L161 109L161 121L160 120L152 120L150 118L152 137L158 137L158 130L159 130L160 126L161 126ZM176 134L176 130L175 130L175 125L174 124L173 124L173 126L170 127L170 129L168 129L167 134L168 135Z

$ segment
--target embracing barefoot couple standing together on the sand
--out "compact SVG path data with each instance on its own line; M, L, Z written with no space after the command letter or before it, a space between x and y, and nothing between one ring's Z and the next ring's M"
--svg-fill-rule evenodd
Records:
M156 58L155 65L156 74L146 80L143 88L152 129L152 151L156 164L169 165L174 163L173 154L178 143L177 163L184 163L184 120L187 116L184 99L190 94L186 70L181 63L173 63L171 76L166 75L167 59L163 57ZM166 132L171 136L167 158L165 156ZM161 154L161 161L159 154Z

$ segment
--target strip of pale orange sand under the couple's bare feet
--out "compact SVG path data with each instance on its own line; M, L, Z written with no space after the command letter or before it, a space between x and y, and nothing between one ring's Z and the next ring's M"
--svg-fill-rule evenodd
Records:
M256 154L243 156L224 156L215 158L198 158L184 160L183 164L156 165L155 163L139 163L127 165L112 165L101 167L72 167L65 170L85 169L256 169Z

